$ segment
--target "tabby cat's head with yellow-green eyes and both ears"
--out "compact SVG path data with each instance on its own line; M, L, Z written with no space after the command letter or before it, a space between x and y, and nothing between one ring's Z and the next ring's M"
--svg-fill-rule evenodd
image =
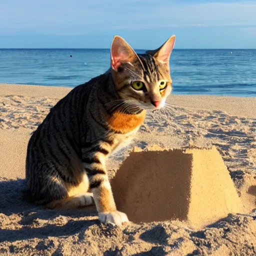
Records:
M136 54L120 36L111 44L111 73L117 94L125 102L142 109L162 107L171 92L169 57L172 35L156 50Z

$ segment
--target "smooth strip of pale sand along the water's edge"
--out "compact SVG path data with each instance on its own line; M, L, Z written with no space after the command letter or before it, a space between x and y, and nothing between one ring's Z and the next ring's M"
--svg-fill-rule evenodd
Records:
M0 83L0 96L22 95L60 99L73 87ZM166 103L193 109L220 110L230 115L256 118L256 97L170 94Z

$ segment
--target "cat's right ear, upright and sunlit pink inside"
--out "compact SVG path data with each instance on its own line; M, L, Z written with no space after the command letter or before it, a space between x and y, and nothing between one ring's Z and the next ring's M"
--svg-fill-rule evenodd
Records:
M147 50L146 53L154 56L159 62L169 65L170 53L174 47L175 34L155 50Z

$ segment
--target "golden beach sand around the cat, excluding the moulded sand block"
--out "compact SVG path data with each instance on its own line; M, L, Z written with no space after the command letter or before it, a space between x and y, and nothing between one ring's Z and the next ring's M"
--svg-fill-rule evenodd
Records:
M215 145L247 212L201 229L184 221L99 224L95 210L45 210L25 198L24 158L30 133L71 88L0 83L0 254L255 255L256 98L171 95L147 113L132 144L109 158L110 176L133 146ZM198 207L198 211L203 211Z

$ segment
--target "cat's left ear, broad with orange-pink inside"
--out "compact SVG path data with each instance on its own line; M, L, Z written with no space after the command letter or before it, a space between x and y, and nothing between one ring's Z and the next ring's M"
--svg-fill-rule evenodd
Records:
M122 62L132 62L137 58L136 52L121 37L115 35L111 43L111 67L114 70L120 66Z

